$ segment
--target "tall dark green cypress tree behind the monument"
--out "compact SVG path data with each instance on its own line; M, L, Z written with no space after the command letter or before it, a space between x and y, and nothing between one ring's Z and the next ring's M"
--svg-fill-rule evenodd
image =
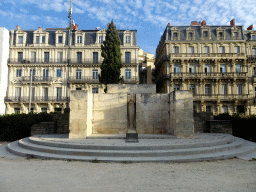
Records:
M100 83L116 84L120 81L122 60L121 60L121 41L119 38L119 30L116 30L113 19L108 24L106 40L101 45L101 56L104 58L100 66L101 75L99 77ZM106 90L105 90L106 92Z

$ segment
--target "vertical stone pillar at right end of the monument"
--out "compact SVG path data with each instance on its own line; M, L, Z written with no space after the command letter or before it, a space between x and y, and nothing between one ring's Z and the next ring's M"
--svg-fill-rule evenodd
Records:
M170 94L170 130L177 138L194 137L193 94L174 91Z

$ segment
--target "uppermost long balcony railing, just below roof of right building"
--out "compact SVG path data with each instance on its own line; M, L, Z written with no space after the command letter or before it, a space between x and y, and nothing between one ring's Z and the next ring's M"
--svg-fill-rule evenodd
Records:
M245 53L170 53L169 57L245 57Z

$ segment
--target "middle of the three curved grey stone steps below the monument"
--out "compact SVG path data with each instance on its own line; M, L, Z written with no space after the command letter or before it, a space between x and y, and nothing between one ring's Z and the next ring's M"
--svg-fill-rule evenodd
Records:
M39 151L43 153L54 153L64 155L79 155L79 156L101 156L101 157L159 157L159 156L181 156L181 155L196 155L205 153L214 153L220 151L232 150L239 148L244 144L243 140L235 140L230 144L210 146L210 147L198 147L198 148L178 148L178 149L162 149L162 150L136 150L136 149L125 149L122 150L100 150L100 149L78 149L78 148L59 148L52 146L36 145L29 142L29 138L24 138L18 141L18 145L21 148ZM104 146L105 148L107 146ZM109 146L111 147L111 146Z

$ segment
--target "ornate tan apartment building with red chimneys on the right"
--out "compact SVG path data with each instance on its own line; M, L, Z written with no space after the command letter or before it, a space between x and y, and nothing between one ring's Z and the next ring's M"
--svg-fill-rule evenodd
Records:
M256 31L250 26L167 25L156 50L157 92L191 90L194 111L253 114Z

